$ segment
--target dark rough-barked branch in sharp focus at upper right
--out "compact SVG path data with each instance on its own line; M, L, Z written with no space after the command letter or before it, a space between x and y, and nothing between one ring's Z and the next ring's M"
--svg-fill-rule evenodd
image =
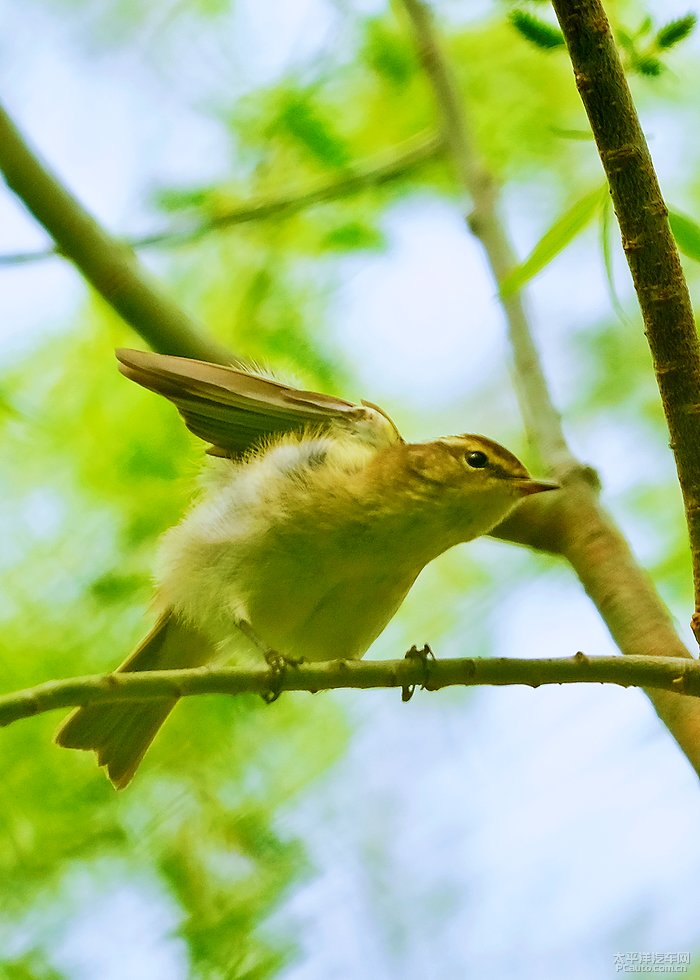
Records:
M553 0L610 184L683 493L700 643L700 342L649 148L600 0Z

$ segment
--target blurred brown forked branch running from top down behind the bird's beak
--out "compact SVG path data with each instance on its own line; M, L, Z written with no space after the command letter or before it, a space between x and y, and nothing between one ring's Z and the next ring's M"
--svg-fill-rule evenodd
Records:
M485 170L468 126L432 16L422 0L403 0L442 118L455 172L472 202L469 225L481 241L496 284L517 264L498 214L495 181ZM549 394L521 295L501 297L521 409L530 438L562 480L552 500L521 505L494 536L564 556L595 603L622 653L690 657L663 602L610 516L598 502L595 472L572 454ZM700 442L698 443L700 445ZM543 495L545 496L545 495ZM700 775L700 705L650 692L654 707Z

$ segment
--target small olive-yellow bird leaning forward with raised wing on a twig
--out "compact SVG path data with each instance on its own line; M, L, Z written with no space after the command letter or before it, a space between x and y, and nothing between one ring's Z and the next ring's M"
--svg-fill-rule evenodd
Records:
M220 457L163 538L159 618L119 670L362 657L428 562L557 488L484 436L407 443L370 402L188 358L117 358ZM174 705L79 708L56 741L94 750L122 788Z

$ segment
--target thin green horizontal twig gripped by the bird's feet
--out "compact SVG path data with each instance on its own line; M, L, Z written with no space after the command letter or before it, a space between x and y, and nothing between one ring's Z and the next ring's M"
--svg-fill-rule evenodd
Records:
M281 674L268 668L198 667L97 674L48 681L36 687L0 696L0 726L57 708L115 701L182 698L195 694L244 694L275 691L366 690L422 686L510 686L525 684L616 684L620 687L658 688L677 696L700 697L700 663L669 657L573 657L542 660L507 657L428 660L330 660L289 666Z

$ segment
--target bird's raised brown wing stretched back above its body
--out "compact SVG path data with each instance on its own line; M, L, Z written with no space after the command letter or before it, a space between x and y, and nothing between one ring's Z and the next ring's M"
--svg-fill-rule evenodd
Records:
M377 448L402 441L389 416L367 402L355 405L188 357L126 349L116 355L121 373L173 402L213 455L239 456L266 436L338 425Z

